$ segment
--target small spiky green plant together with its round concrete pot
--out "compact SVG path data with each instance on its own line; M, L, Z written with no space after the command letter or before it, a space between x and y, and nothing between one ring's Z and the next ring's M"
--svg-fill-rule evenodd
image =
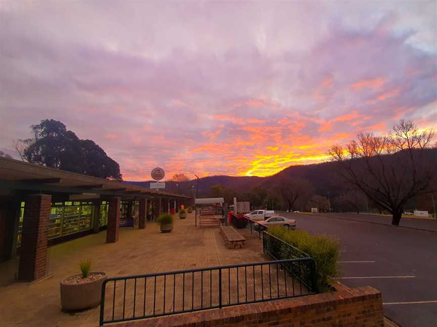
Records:
M94 308L100 304L102 284L106 274L101 271L90 273L91 260L79 263L81 274L61 282L61 305L63 311Z

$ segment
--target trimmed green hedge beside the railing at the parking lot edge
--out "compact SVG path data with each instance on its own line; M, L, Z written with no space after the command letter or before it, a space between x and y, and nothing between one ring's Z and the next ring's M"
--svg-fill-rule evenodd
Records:
M289 230L279 226L269 228L268 233L307 253L314 259L319 290L326 290L333 279L338 277L338 239L329 235L312 236L305 231ZM303 253L280 244L272 245L271 251L278 259L304 256Z

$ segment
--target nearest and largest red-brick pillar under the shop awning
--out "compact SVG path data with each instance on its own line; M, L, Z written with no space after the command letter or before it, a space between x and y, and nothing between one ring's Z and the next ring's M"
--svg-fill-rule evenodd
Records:
M52 196L33 194L26 199L23 216L18 279L35 281L45 277L47 266L47 230Z

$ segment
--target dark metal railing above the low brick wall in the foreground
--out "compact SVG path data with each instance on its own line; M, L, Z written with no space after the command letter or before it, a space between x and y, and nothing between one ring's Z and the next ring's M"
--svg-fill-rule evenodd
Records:
M100 325L315 293L310 257L115 277L102 285Z

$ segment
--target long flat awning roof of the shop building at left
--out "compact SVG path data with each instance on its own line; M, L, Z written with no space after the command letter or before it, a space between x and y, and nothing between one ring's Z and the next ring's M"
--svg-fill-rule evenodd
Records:
M151 190L145 187L103 178L34 165L0 157L0 195L11 196L20 191L47 194L94 194L96 196L189 198L181 194Z

